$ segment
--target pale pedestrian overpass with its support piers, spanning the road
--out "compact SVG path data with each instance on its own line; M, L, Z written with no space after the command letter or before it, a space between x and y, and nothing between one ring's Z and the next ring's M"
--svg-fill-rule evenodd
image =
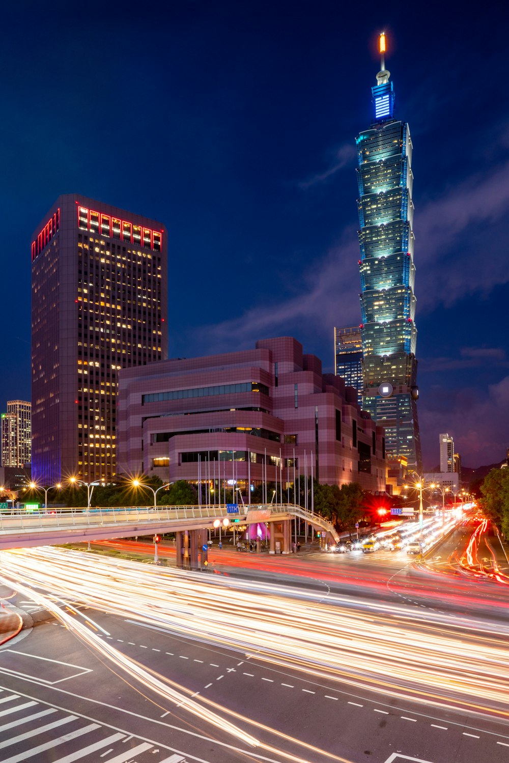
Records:
M339 542L328 520L295 504L97 507L0 513L0 550L176 533L177 566L197 569L214 526L270 523L269 552L288 554L295 519L324 533L324 542Z

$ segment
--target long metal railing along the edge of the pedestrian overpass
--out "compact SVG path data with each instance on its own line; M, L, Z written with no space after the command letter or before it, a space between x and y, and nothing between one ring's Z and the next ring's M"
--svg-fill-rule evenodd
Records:
M239 513L229 513L226 505L193 505L193 506L159 506L156 509L151 506L133 507L69 507L63 510L40 510L27 513L24 510L0 513L0 531L2 533L19 533L20 531L44 530L62 528L83 529L86 526L111 526L141 523L147 526L157 523L168 523L171 532L172 523L178 525L182 520L205 520L203 526L209 526L215 519L229 518L239 519L246 523L248 511L269 512L266 521L275 521L278 515L291 514L311 525L320 527L329 533L336 542L339 536L333 525L322 517L320 513L311 513L295 504L250 504L239 505ZM256 521L256 520L255 520Z

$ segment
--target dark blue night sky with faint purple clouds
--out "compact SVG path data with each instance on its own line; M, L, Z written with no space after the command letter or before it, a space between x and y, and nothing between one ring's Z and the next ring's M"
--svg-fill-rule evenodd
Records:
M464 465L501 461L507 7L2 6L2 410L31 399L31 234L61 193L168 227L170 357L290 335L332 371L334 324L360 322L355 137L385 29L395 116L414 143L424 466L439 462L439 432Z

